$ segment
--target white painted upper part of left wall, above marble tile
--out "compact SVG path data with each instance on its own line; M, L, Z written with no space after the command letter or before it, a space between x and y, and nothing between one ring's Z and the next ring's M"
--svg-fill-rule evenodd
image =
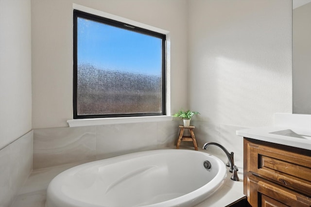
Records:
M0 149L31 129L31 4L0 0Z

